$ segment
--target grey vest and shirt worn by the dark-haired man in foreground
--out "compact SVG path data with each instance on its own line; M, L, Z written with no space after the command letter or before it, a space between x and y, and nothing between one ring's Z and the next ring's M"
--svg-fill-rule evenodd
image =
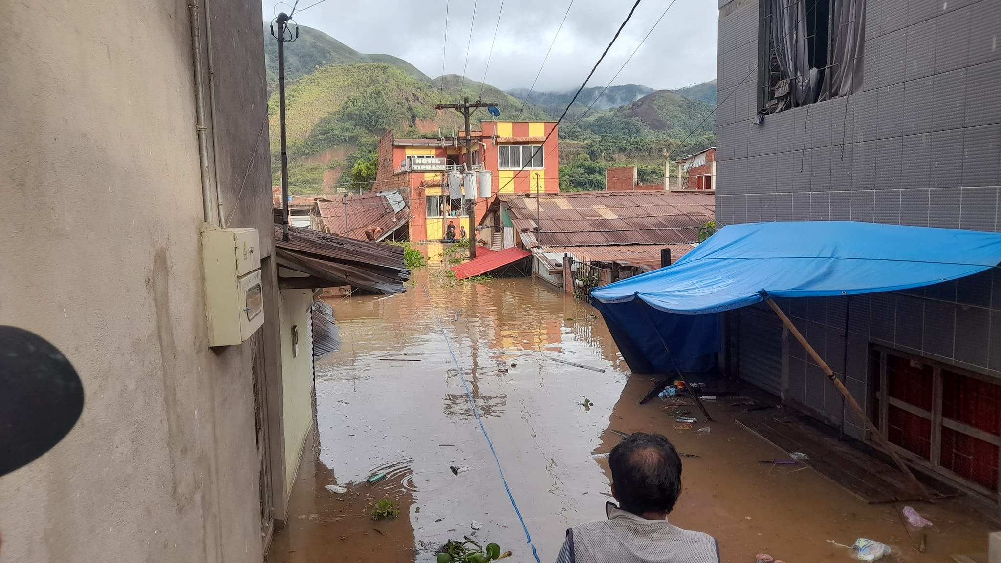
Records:
M606 505L608 520L567 530L557 563L720 563L716 539Z

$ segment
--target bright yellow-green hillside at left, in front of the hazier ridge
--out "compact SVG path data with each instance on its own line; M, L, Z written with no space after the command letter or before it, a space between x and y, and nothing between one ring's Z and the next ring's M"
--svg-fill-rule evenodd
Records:
M459 91L461 87L461 91ZM453 110L435 109L439 102L495 101L502 117L546 119L534 106L492 86L448 75L432 82L417 80L387 63L327 64L290 81L285 88L285 128L289 186L295 193L319 193L337 187L357 188L370 180L375 143L387 130L398 137L450 135L464 124ZM278 94L268 101L274 181L279 181ZM489 119L474 114L473 127ZM359 161L361 164L358 164Z

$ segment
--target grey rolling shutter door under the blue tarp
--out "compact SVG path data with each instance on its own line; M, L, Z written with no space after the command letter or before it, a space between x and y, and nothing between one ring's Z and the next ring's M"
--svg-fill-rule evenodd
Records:
M782 321L767 307L740 309L738 336L740 378L780 395L782 392Z

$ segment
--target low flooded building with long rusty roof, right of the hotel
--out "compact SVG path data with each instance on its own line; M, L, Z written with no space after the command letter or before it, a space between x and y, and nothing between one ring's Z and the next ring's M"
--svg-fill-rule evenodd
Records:
M674 262L698 244L715 206L715 194L701 191L500 195L480 236L493 241L493 250L532 252L533 274L562 286L564 255L608 265L622 277L659 268L665 248Z

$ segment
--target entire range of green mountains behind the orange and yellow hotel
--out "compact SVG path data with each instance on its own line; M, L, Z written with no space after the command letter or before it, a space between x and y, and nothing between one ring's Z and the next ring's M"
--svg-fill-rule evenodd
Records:
M274 80L276 42L268 25L264 34L268 78ZM461 130L462 116L452 110L436 110L438 103L456 103L468 97L470 101L496 102L500 119L556 119L573 96L533 93L531 103L526 103L517 95L528 94L522 90L513 91L513 95L456 75L430 80L406 61L359 53L304 26L299 26L298 39L286 44L285 58L292 193L368 187L376 164L375 144L387 130L397 137L433 138L439 131L450 135ZM278 99L274 90L268 109L273 180L277 184ZM601 93L597 87L585 90L561 124L561 189L599 189L604 186L608 166L635 164L644 182L663 178L668 152L689 154L715 143L715 120L706 118L713 110L715 92L715 81L675 92L655 92L635 84L615 86L581 119ZM548 107L552 110L547 111ZM484 119L490 119L487 112L477 111L472 126L478 128ZM705 123L696 127L703 119ZM690 131L694 131L692 135Z

